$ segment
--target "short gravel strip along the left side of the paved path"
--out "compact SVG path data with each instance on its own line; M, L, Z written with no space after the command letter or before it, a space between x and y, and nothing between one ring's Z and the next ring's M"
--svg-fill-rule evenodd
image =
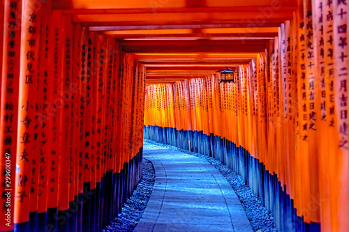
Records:
M142 179L126 201L121 213L111 222L103 232L133 231L143 215L155 183L155 169L153 164L143 158Z

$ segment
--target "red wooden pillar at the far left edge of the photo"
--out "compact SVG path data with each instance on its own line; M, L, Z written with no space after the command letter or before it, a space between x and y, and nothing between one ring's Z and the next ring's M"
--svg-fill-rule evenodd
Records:
M0 110L0 171L4 185L1 182L1 213L6 220L0 222L0 230L13 229L15 217L15 169L17 154L17 122L18 93L20 85L20 46L21 24L18 19L22 15L22 1L3 1L3 42L1 44L1 110ZM6 36L4 36L6 35ZM7 153L7 155L6 155ZM8 160L8 161L6 161ZM8 167L8 168L6 168ZM10 170L8 170L10 169ZM8 171L6 171L8 170ZM5 173L6 172L6 173ZM28 184L29 185L29 184ZM8 203L10 201L10 203Z

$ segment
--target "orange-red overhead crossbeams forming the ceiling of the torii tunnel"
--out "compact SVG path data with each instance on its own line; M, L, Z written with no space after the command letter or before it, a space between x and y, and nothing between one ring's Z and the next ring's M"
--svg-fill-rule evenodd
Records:
M211 75L247 65L297 1L54 1L73 22L119 41L147 67L147 84Z

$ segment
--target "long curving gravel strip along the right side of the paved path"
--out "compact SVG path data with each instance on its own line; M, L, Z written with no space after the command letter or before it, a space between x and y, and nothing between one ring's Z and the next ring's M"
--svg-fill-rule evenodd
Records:
M228 182L232 186L232 189L239 197L239 200L242 203L242 207L246 212L247 218L251 223L252 229L256 232L277 231L274 224L274 217L272 217L271 213L267 210L267 208L265 208L262 205L262 202L260 201L259 197L253 194L250 187L245 185L241 176L239 176L237 173L228 168L227 165L222 164L218 160L215 160L213 157L209 157L207 155L190 152L188 150L177 148L175 146L159 144L149 139L144 139L144 141L149 144L171 148L173 150L179 150L186 154L195 155L196 157L200 157L212 164L228 180Z

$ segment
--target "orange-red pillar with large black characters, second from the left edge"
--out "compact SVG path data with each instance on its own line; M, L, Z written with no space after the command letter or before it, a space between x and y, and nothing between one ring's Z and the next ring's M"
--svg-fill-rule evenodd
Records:
M36 9L36 1L30 0L24 1L24 9L20 51L20 97L17 131L19 139L17 142L17 166L19 170L16 171L15 223L29 220L31 165L36 164L38 160L38 153L34 153L34 149L38 134L38 128L35 127L35 114L41 9Z

